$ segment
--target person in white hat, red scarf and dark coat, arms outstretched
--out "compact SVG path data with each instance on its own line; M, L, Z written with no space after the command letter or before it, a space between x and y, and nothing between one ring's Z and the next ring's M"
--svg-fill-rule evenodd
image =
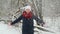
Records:
M23 20L22 34L34 34L33 19L37 21L37 24L44 23L43 20L34 16L34 14L31 11L31 6L26 6L22 15L18 19L10 23L10 25L13 25L15 23L18 23L20 20Z

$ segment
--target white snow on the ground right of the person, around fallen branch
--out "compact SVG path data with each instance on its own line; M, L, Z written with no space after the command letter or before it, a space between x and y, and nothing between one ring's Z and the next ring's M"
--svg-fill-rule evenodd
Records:
M35 29L36 31L38 31L39 34L60 34L60 17L58 18L50 18L50 17L44 17L44 22L45 22L45 25L44 27L46 28L46 30L50 30L50 31L54 31L54 33L51 33L51 32L46 32L46 31L43 31L43 30L39 30L39 29ZM36 25L36 21L34 20L34 25ZM44 28L44 29L45 29Z

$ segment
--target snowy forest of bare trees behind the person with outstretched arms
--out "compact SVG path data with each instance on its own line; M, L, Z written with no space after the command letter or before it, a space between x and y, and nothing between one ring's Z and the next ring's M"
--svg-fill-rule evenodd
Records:
M14 20L22 13L20 9L28 3L32 6L33 13L44 20L45 27L56 31L54 34L60 32L60 0L0 0L0 20L8 21ZM16 25L17 26L17 25ZM52 34L49 32L40 31L40 34Z

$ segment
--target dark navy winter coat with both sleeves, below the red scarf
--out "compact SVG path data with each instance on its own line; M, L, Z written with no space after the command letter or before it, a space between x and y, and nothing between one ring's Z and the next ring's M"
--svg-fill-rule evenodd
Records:
M35 19L37 21L37 24L43 23L43 21L39 18L37 18L36 16L34 16L33 14L30 15L31 17L24 17L24 15L22 14L18 19L16 19L15 21L13 21L11 23L11 25L18 23L20 20L23 20L23 25L22 25L22 34L34 34L34 22L33 19Z

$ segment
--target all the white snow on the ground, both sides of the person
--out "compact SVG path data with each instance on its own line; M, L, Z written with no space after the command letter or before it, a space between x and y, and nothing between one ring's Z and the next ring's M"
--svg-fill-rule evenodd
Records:
M45 28L48 28L49 30L54 30L55 32L54 33L51 33L51 32L46 32L46 31L43 31L43 30L39 30L37 28L34 29L34 34L59 34L59 18L56 18L57 21L53 21L52 23L52 19L51 18L44 18L44 21L46 22L45 24ZM4 24L5 22L4 21L0 21L0 34L22 34L22 26L19 25L19 27L9 27L7 24ZM37 25L36 24L36 21L34 20L34 25Z

